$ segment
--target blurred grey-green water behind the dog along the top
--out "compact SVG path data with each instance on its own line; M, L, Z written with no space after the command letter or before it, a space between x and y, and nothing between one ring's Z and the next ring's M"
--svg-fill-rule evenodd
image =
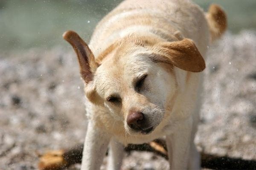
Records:
M194 0L205 11L220 4L232 33L256 28L255 0ZM75 30L88 42L96 23L121 0L1 0L0 50L67 45L62 33Z

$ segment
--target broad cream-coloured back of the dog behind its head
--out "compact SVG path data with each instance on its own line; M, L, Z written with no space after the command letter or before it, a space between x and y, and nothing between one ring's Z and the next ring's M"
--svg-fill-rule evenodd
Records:
M194 3L187 0L125 0L98 24L89 46L97 57L117 39L134 32L145 34L145 30L170 41L179 30L180 35L194 40L203 54L209 42L204 12Z

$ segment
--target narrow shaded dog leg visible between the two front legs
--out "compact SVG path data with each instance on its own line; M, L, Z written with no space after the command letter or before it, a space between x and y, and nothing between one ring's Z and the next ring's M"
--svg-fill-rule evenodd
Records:
M115 139L111 139L108 154L108 170L119 170L122 165L124 146Z

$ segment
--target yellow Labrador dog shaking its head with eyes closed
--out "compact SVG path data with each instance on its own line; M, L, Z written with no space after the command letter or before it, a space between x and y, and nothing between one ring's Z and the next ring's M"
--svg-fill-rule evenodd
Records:
M65 32L87 100L81 169L99 169L108 146L108 169L120 169L125 145L163 136L171 169L200 169L193 141L201 72L207 46L226 27L217 5L204 13L189 0L125 0L99 22L89 45Z

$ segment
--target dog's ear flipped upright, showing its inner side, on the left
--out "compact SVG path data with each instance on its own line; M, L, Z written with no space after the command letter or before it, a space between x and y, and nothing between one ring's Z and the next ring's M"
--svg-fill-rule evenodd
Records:
M88 45L74 31L66 31L63 38L69 42L74 50L79 61L80 74L85 83L93 79L93 73L96 71L98 64L95 62L92 51Z

